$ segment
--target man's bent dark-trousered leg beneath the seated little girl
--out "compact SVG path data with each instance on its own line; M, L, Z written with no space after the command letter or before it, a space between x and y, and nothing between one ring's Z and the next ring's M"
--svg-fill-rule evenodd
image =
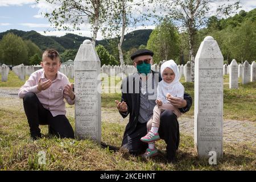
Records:
M171 110L164 110L160 115L159 137L166 142L167 161L173 162L179 147L179 123Z

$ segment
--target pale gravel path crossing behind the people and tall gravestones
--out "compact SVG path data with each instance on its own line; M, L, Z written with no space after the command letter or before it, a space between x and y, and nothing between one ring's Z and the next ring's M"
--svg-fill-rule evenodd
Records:
M18 98L18 89L0 88L0 109L12 108L15 110L23 110L22 100ZM74 107L67 108L67 115L73 117ZM118 111L111 109L102 109L102 121L105 122L128 122L128 117L123 119ZM180 132L193 136L193 118L179 118ZM252 142L256 141L256 123L250 121L224 120L224 141L232 143Z

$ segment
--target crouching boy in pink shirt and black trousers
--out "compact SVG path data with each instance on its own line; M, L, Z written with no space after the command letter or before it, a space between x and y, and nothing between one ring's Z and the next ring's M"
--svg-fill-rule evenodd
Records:
M74 138L72 126L65 117L64 98L73 105L75 94L67 76L59 72L59 53L55 49L47 49L41 65L43 69L32 73L18 93L23 98L31 138L42 138L39 125L49 125L49 133L60 138Z

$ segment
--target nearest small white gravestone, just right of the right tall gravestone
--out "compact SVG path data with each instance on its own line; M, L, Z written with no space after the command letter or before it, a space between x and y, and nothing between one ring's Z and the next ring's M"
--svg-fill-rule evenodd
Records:
M238 88L238 64L236 60L232 60L229 65L229 88L237 89Z

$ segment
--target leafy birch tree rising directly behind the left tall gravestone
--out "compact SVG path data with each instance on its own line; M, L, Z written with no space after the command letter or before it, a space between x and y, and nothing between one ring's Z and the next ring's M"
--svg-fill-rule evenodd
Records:
M36 0L39 3L42 0ZM96 44L97 33L105 22L110 0L44 0L55 7L43 15L57 30L81 30L80 26L89 23L92 28L92 43Z

